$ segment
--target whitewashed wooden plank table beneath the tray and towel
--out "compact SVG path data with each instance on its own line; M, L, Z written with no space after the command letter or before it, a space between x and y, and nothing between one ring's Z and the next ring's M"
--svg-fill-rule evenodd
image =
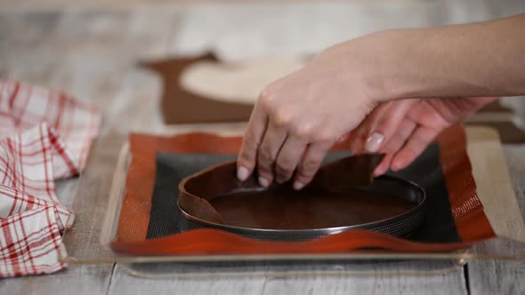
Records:
M100 254L101 219L118 150L130 131L160 132L160 81L137 60L214 49L224 59L319 52L329 44L383 28L487 20L525 12L522 1L388 1L182 7L111 11L0 12L0 78L42 84L101 107L101 136L85 175L59 183L61 201L77 211L65 243L71 256ZM306 21L308 20L308 21ZM520 109L519 111L523 111ZM521 212L525 210L525 147L505 146ZM76 188L78 187L77 191ZM273 294L273 293L524 293L525 264L472 261L442 275L148 280L119 264L71 266L55 275L0 281L1 294Z

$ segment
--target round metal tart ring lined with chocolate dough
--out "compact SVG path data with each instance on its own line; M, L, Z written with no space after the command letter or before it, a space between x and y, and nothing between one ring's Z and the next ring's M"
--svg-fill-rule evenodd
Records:
M382 159L355 155L328 163L298 192L290 183L259 187L256 175L240 182L235 162L216 165L181 181L177 231L214 228L283 242L356 229L407 237L421 225L424 189L392 176L374 179Z

